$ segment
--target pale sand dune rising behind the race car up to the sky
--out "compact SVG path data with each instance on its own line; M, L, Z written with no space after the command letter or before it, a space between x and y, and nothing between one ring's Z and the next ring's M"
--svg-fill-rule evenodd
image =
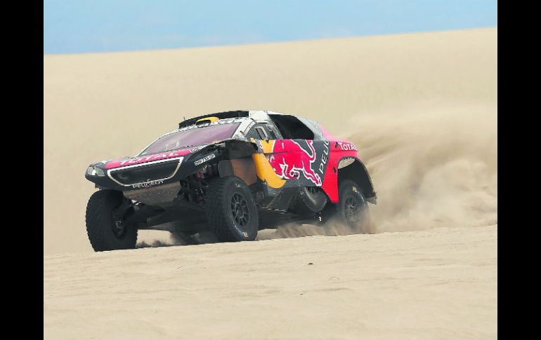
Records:
M351 137L379 192L382 231L469 223L471 212L494 223L496 103L497 29L47 55L44 254L91 252L86 165L136 154L183 116L228 109L299 114ZM419 200L426 191L437 200Z

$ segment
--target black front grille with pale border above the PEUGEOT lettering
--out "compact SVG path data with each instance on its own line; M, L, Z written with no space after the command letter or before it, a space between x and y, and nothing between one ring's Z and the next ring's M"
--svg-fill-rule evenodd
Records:
M131 185L171 177L174 175L177 166L178 159L175 159L151 165L142 164L134 168L121 168L110 172L110 175L121 184Z

